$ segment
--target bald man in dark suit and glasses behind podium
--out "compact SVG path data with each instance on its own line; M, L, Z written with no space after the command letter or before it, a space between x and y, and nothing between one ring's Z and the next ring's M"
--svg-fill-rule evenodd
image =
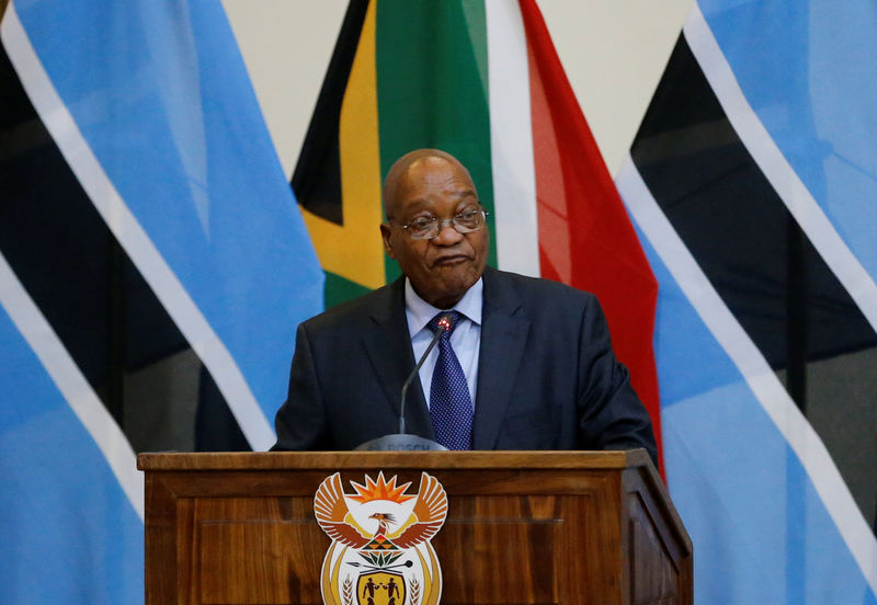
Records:
M275 449L351 449L395 432L402 384L432 338L428 323L454 309L448 349L431 353L409 390L409 433L437 433L456 448L645 447L657 458L596 298L486 267L485 213L455 158L431 149L403 156L387 175L384 204L384 244L405 275L299 326ZM463 441L440 426L449 390L458 406L451 431L463 426Z

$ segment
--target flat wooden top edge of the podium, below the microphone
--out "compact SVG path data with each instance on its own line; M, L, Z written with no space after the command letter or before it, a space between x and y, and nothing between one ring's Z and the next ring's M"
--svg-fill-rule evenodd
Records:
M283 469L625 469L651 466L645 449L626 452L218 452L144 453L139 470ZM652 467L653 468L653 467Z

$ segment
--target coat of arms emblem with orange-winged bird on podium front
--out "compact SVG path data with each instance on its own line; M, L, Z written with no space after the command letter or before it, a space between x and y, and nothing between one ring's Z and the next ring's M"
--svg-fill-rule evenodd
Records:
M365 484L327 477L314 496L317 523L331 538L320 574L326 605L436 605L442 571L430 539L447 516L447 494L423 472L417 494L396 477Z

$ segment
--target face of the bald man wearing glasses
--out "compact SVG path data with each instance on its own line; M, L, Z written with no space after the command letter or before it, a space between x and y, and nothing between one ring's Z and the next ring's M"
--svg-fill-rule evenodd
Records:
M480 208L469 175L457 163L440 157L415 160L386 199L389 225L380 226L384 246L399 263L418 295L440 309L453 307L481 277L487 262L487 227L459 233L445 226L431 240L415 240L402 229L415 218L453 218Z

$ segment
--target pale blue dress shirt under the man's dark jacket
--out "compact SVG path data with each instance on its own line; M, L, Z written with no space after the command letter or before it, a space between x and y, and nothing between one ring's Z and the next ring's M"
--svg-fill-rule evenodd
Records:
M405 281L405 315L408 319L408 333L411 334L411 347L414 350L414 361L420 359L430 345L433 333L426 328L432 318L442 311L455 310L465 317L451 334L451 346L459 359L466 384L469 386L469 399L475 408L475 389L478 384L478 353L481 349L481 300L485 284L478 279L470 287L453 309L436 309L417 295L411 282ZM430 406L430 389L432 388L432 373L438 361L438 346L435 346L426 361L420 367L420 384L423 386L423 397L426 407Z

